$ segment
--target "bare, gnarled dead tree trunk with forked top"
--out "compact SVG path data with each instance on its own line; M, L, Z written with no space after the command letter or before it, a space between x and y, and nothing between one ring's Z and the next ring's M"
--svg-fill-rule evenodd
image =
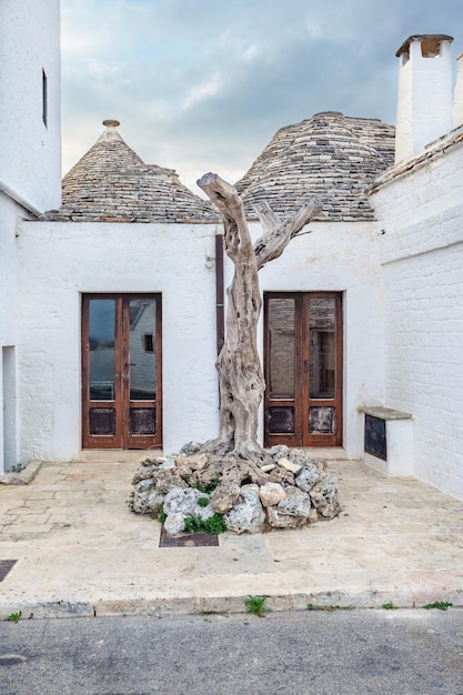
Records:
M198 185L222 213L224 251L234 264L233 280L227 290L225 340L215 364L220 434L203 449L211 454L232 454L246 461L264 460L258 443L259 406L265 389L258 353L262 306L258 271L282 254L321 207L315 201L303 205L289 220L280 221L266 203L260 204L255 211L264 235L253 245L238 191L213 173L204 174Z

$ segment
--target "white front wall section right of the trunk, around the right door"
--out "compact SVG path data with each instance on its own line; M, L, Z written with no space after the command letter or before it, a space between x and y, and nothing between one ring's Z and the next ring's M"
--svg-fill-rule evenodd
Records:
M316 222L309 229L310 234L294 239L280 259L262 269L261 289L343 292L343 444L348 457L356 459L363 452L363 415L358 409L381 403L384 395L383 298L375 251L379 231L366 222ZM253 233L259 235L260 230Z

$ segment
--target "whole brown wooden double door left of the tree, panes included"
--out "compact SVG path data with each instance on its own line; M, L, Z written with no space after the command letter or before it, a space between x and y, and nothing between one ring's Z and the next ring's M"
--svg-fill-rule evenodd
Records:
M82 447L162 446L160 294L82 296Z

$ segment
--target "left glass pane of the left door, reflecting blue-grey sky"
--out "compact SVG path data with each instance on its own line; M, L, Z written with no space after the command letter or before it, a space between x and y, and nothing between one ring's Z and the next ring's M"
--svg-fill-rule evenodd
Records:
M89 302L90 400L113 401L115 379L115 300Z

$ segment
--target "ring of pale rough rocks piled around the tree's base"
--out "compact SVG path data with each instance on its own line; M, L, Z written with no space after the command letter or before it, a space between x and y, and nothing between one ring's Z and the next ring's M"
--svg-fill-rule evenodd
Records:
M240 466L190 443L179 454L144 457L133 476L131 510L159 518L167 533L238 534L298 528L341 511L326 462L274 446L268 463Z

